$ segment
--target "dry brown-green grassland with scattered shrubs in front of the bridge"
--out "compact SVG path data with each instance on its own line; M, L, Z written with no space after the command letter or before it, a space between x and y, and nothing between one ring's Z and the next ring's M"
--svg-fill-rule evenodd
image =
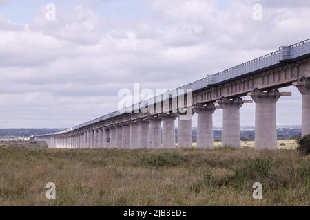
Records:
M286 144L288 146L288 144ZM254 182L263 199L253 199ZM56 184L56 199L45 184ZM0 142L0 206L309 206L296 150L47 149Z

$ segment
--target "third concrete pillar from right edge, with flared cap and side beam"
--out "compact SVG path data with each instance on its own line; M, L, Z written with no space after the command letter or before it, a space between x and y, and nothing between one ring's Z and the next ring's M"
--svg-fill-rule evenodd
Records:
M216 101L222 111L222 146L239 148L241 146L240 134L240 108L244 103L252 103L252 100L241 98L221 98Z

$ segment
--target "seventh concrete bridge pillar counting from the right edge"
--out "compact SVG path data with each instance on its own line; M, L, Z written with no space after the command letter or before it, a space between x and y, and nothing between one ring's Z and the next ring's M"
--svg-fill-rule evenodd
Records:
M161 148L161 118L149 120L149 148Z

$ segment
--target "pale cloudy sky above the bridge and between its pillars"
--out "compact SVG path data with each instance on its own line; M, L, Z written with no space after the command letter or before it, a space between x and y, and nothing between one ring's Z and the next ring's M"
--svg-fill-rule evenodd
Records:
M119 89L179 87L308 39L309 27L301 0L0 0L0 128L81 124L115 111ZM301 96L284 90L278 125L300 124ZM254 104L240 118L254 125Z

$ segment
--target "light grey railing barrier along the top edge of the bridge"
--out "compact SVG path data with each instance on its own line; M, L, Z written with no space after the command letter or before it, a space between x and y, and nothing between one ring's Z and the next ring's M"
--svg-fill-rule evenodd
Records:
M279 50L275 52L266 54L264 56L260 56L251 61L247 61L246 63L237 65L235 67L225 69L222 72L218 72L213 75L207 75L205 78L197 80L193 83L189 83L187 85L183 85L182 87L178 87L178 89L192 89L193 92L200 91L202 89L207 89L208 87L214 87L217 85L228 83L229 81L233 81L238 78L251 76L253 74L258 74L260 72L265 72L269 69L285 66L288 63L294 63L296 61L300 61L304 58L309 57L310 57L310 39L307 39L305 41L301 41L299 43L290 46L282 46L279 48ZM149 102L149 104L156 103L156 97L147 100L147 102ZM130 111L133 111L134 109L139 109L139 107L140 104L137 103L134 104L132 107L129 107L129 109ZM61 133L81 129L82 127L90 126L91 124L96 124L98 122L103 122L105 120L115 118L122 114L123 113L121 113L120 111L114 111L112 113L108 113L107 115L103 115L100 118L96 118L95 120L91 120L89 122L79 124L78 126L74 126L72 129L68 129L68 131L63 131Z

